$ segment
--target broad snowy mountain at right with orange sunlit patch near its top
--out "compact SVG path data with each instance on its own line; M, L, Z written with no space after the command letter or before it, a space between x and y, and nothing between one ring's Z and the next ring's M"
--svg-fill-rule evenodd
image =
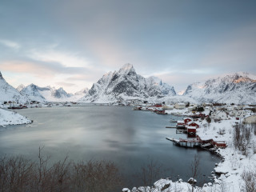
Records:
M256 77L248 73L227 74L196 82L183 95L198 102L256 103Z

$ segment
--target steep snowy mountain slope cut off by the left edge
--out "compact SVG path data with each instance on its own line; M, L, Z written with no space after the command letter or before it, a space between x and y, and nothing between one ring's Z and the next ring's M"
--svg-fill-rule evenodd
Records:
M27 102L26 96L20 94L13 86L10 86L0 72L0 102Z

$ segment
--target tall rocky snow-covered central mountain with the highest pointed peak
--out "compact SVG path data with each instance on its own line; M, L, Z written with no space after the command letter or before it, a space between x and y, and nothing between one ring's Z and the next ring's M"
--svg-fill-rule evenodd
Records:
M159 78L143 78L131 64L104 74L79 102L111 102L126 99L159 99L176 95L174 87Z

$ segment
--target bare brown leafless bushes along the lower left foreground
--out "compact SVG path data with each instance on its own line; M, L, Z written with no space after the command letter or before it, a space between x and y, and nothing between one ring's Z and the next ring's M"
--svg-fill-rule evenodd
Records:
M113 162L68 162L67 158L49 166L39 149L38 162L26 158L0 158L0 191L114 191L121 175Z

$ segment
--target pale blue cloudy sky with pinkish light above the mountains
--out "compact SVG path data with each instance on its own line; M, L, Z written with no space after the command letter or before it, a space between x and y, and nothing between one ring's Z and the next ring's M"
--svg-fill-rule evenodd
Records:
M130 63L178 92L256 74L256 1L1 0L0 71L10 85L74 93Z

